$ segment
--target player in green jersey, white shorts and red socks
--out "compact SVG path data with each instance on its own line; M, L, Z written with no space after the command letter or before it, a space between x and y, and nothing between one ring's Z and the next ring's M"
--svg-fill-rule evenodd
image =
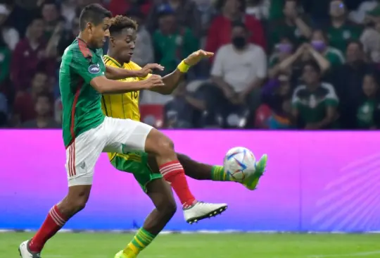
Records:
M94 166L101 152L124 154L140 151L153 154L160 173L182 202L184 212L192 211L195 218L213 216L227 208L227 204L196 201L189 190L184 168L177 159L172 141L163 133L139 121L103 115L101 94L150 90L165 85L158 75L151 75L146 80L120 82L118 79L138 76L130 70L105 65L101 48L110 33L111 16L98 4L86 6L80 15L80 35L62 56L59 86L63 103L68 195L51 208L33 238L20 244L22 258L40 258L46 241L84 208L91 191ZM160 182L161 188L166 189L163 202L170 202L170 188L167 190L164 180ZM151 219L162 216L171 218L172 212L155 209L150 216ZM162 229L165 225L158 226ZM154 230L158 231L158 228Z

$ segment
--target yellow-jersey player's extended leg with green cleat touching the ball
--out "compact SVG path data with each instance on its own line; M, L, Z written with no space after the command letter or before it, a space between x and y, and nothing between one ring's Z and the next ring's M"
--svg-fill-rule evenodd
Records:
M214 181L235 181L243 184L249 190L255 190L260 177L265 172L267 166L267 154L262 155L260 160L256 163L256 171L248 173L243 181L236 181L224 171L223 166L210 166L203 164L189 158L184 154L177 154L179 162L184 167L186 176L196 180L214 180Z

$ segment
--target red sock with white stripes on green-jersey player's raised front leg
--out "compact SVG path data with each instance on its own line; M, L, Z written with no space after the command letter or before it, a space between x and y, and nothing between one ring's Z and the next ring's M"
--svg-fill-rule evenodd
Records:
M184 168L179 161L171 161L167 164L160 166L160 173L165 180L172 185L179 200L184 207L194 204L196 200L194 195L190 192L189 185L187 184Z

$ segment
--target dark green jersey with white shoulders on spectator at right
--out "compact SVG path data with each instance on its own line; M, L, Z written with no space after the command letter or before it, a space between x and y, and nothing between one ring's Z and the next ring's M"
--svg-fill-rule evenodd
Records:
M296 87L292 102L304 123L318 123L326 116L328 106L338 106L338 97L332 85L322 82L313 91L305 85Z

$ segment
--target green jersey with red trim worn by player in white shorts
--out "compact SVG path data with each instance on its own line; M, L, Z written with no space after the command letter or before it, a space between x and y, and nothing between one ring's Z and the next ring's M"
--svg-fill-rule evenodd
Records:
M68 147L81 133L103 123L101 94L90 85L90 82L98 76L104 76L105 72L103 49L89 49L81 39L75 39L65 49L59 70L65 147Z

